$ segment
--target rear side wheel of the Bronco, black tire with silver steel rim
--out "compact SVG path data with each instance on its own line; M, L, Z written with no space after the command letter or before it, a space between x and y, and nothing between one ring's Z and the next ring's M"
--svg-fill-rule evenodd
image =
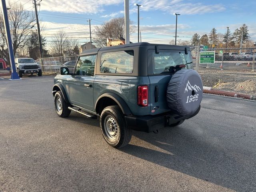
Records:
M113 129L111 131L110 129L109 131L107 130L108 122L111 122L110 126L111 124L112 126L114 126L114 131ZM100 128L102 130L103 138L110 146L114 148L121 148L123 146L126 146L131 140L131 128L127 126L124 119L124 114L122 113L119 106L114 105L104 108L100 115Z

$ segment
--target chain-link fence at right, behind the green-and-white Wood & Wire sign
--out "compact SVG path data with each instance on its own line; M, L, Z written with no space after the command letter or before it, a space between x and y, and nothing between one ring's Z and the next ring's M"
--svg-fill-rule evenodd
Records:
M200 52L215 51L215 63L200 63ZM193 66L197 72L256 74L255 48L203 49L191 47Z

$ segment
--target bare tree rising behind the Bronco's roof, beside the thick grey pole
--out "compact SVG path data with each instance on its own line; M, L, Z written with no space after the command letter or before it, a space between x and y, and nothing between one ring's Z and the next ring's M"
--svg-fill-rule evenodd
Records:
M130 21L130 34L134 32L133 22ZM96 36L94 42L99 47L105 47L107 38L119 39L124 37L124 17L113 18L112 20L96 26Z

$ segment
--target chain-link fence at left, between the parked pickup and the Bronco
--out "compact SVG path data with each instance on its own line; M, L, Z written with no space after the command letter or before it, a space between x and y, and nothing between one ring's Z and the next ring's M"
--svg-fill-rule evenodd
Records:
M61 57L48 57L39 58L36 62L40 63L42 72L46 73L58 73L60 67L68 67L72 72L76 64L78 56L61 56Z

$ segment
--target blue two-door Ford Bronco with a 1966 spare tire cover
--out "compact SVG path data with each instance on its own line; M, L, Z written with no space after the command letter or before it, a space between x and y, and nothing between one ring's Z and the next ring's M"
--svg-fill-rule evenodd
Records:
M200 110L202 80L189 47L133 43L80 54L74 73L60 68L52 94L57 114L100 117L104 139L127 145L131 129L158 132Z

